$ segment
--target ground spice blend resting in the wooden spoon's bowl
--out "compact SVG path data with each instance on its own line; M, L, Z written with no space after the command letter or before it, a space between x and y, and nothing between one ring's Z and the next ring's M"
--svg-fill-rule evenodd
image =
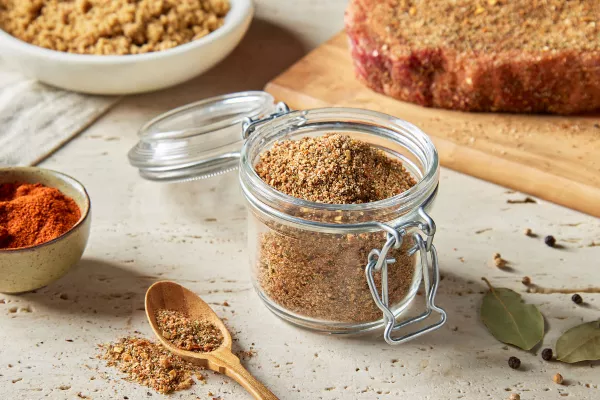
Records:
M183 350L208 353L223 343L223 334L214 324L188 318L173 310L158 310L156 323L162 336Z

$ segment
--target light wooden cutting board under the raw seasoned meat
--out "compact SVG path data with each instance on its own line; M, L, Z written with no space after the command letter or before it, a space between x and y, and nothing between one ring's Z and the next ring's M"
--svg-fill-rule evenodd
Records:
M600 217L600 115L464 113L380 95L354 77L340 33L266 86L294 109L357 107L412 122L443 166Z

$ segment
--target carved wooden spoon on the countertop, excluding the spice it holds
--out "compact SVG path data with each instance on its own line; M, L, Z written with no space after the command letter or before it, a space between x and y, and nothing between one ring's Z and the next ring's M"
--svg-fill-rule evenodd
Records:
M174 346L162 336L156 323L156 311L160 309L179 311L190 319L211 322L221 330L223 343L218 349L209 353L187 351ZM217 317L212 308L195 293L175 282L156 282L146 292L146 316L156 337L171 353L195 365L235 379L255 399L277 400L277 397L269 389L250 375L240 363L240 359L231 352L231 335L225 324Z

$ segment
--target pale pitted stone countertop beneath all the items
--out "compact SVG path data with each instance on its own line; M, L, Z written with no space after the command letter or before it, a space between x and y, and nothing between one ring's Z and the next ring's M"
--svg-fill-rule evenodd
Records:
M337 32L344 1L262 0L242 45L222 65L179 87L124 99L42 164L81 180L92 198L89 246L58 282L20 296L0 295L0 398L157 399L94 358L96 344L141 331L150 337L143 295L157 278L176 280L228 318L244 362L282 399L599 399L600 364L569 366L508 348L478 318L481 277L524 293L524 275L547 287L600 286L599 220L444 169L434 210L435 242L445 279L437 303L448 311L439 331L391 347L379 336L332 337L295 328L272 315L254 293L246 255L246 210L237 175L193 183L146 182L127 151L146 120L217 93L261 89L308 49ZM519 177L515 177L519 179ZM216 220L214 220L216 219ZM563 249L528 238L529 227L556 236ZM481 233L477 233L477 232ZM491 266L494 252L513 272ZM67 299L61 299L66 294ZM544 313L553 346L567 328L600 315L600 295L524 294ZM224 301L230 307L220 306ZM32 312L10 313L29 306ZM507 366L509 356L521 370ZM9 367L9 364L12 367ZM552 382L560 372L566 385ZM13 383L14 381L14 383ZM175 399L247 399L235 382L209 373L206 385ZM591 387L587 387L587 386ZM61 389L62 388L62 389ZM195 394L191 395L191 393ZM126 396L126 397L125 397Z

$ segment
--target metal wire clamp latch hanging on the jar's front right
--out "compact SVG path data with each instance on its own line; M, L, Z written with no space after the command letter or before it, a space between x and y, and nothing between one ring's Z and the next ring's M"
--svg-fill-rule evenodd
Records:
M384 321L386 324L384 330L384 339L389 344L400 344L407 342L425 333L440 328L446 322L446 312L435 305L435 295L440 280L437 252L435 246L433 245L435 223L423 207L419 208L418 214L422 221L411 221L395 228L391 227L390 225L378 223L378 225L387 232L387 241L381 250L373 249L369 253L368 263L365 267L365 274L367 276L367 282L369 284L373 300L377 304L377 307L379 307L379 309L383 312ZM396 249L400 248L400 246L402 246L404 237L409 234L409 230L415 228L418 229L424 236L422 236L422 234L418 231L412 233L412 238L415 241L415 245L409 249L408 254L412 256L416 252L420 252L426 308L425 311L418 316L409 318L405 321L396 322L396 317L389 305L387 276L388 263L394 262L395 260L387 258L387 254L392 247ZM377 285L375 284L374 273L377 271L381 271L381 293L378 292ZM433 311L440 315L440 318L437 322L414 330L413 332L405 333L399 337L392 336L394 332L402 328L429 318Z

